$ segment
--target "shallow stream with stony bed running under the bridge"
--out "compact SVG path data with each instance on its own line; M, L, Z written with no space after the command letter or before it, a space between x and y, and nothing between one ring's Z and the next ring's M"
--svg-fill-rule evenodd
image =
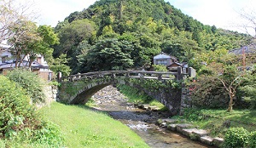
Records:
M155 125L158 118L170 117L168 113L134 108L127 103L125 96L112 86L103 88L92 99L96 101L97 110L108 111L111 117L130 127L152 148L209 147Z

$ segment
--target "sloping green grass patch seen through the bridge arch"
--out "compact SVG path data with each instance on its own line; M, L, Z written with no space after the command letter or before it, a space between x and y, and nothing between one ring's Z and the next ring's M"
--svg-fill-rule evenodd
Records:
M161 104L158 100L148 96L137 88L131 88L127 85L119 85L119 91L128 98L128 102L132 102L135 104L148 104L154 105L160 108L160 111L166 111L167 108L165 105Z

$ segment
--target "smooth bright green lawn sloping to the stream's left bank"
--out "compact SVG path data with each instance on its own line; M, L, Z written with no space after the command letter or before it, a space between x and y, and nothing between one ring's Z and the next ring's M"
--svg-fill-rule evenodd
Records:
M102 111L54 102L41 112L61 127L67 147L148 147L130 128Z

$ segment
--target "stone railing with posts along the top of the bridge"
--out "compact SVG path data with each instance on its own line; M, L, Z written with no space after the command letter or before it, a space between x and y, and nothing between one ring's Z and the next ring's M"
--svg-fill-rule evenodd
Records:
M130 77L130 78L142 78L142 79L177 79L181 80L183 76L192 76L193 71L189 68L189 73L183 73L181 67L177 68L177 72L159 72L159 71L94 71L87 73L78 73L76 75L70 75L68 77L60 77L61 81L78 81L84 78L103 78L103 77Z

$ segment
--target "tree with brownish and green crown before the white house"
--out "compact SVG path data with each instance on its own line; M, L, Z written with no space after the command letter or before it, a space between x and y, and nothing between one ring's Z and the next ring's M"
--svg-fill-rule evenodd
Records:
M9 38L8 43L12 45L11 51L15 56L15 67L20 67L27 55L29 68L38 54L44 55L47 60L51 59L53 48L50 46L58 43L58 37L50 26L38 27L31 21L21 21L20 24L13 26L11 31L15 35Z

